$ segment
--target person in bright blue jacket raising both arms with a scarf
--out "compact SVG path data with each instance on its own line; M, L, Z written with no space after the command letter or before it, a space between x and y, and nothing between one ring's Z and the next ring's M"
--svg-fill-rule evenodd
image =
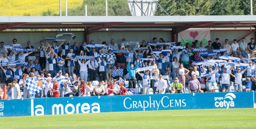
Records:
M137 60L139 62L139 60ZM135 70L138 68L139 63L137 63L136 67L133 64L130 64L130 60L128 61L129 71L129 87L128 88L136 88L136 78L135 78ZM134 68L133 68L134 67Z

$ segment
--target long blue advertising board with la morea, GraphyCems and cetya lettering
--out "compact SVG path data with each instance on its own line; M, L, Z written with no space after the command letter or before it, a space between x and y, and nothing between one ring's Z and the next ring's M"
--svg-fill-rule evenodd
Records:
M254 93L256 92L0 100L0 117L178 109L254 108Z

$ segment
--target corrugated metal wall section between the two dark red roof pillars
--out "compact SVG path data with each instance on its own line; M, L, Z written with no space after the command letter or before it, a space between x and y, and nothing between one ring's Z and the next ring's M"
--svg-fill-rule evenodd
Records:
M171 32L94 32L89 35L89 40L94 40L96 44L106 42L108 45L111 39L114 39L115 43L120 46L123 38L125 38L126 41L138 41L141 44L142 40L152 42L154 37L157 39L163 38L165 41L171 41Z

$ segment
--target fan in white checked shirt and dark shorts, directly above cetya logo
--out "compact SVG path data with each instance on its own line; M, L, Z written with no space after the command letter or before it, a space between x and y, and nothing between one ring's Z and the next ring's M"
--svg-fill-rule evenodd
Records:
M231 69L233 69L233 65ZM227 67L224 67L224 70L222 71L221 69L219 70L221 72L221 77L222 77L222 92L228 92L228 89L230 87L230 79L229 79L229 74L231 73L231 69L227 70Z

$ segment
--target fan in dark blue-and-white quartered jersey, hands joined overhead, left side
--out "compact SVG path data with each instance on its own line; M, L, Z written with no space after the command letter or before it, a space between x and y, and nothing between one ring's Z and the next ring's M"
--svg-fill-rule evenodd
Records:
M54 55L53 54L55 54L55 55L57 55L54 51L53 51L53 49L52 49L52 52L53 53L51 53L51 58L48 58L48 55L50 54L50 52L48 53L48 54L46 54L45 56L46 56L46 59L48 60L48 62L49 62L49 73L51 74L51 76L52 77L54 77L55 75L56 75L56 62L57 62L57 56L55 56L55 58L53 57Z

